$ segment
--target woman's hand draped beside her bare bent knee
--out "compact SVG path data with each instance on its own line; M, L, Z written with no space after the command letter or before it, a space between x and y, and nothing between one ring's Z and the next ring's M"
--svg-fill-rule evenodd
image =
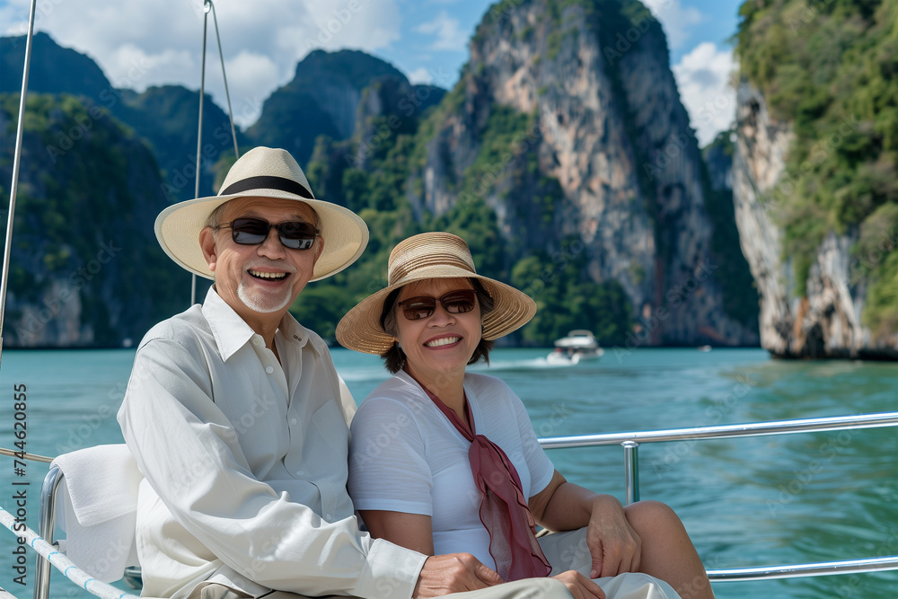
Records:
M629 525L617 499L605 495L594 501L586 528L586 544L593 558L589 577L613 577L623 572L638 572L642 540Z

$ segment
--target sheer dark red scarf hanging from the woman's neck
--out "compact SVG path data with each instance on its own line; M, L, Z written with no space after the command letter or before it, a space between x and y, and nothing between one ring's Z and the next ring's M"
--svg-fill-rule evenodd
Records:
M418 383L421 384L421 383ZM496 562L496 571L506 582L522 578L547 577L551 571L549 561L542 554L536 541L536 521L515 464L502 448L487 437L474 432L474 418L468 398L464 401L464 415L468 423L440 401L423 384L421 388L436 404L462 436L471 442L468 460L471 474L480 489L480 522L489 533L489 555Z

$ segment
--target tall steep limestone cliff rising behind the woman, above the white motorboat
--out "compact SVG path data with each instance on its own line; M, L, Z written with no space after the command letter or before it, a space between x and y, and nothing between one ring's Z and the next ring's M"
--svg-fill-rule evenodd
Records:
M634 345L757 342L725 309L709 181L664 34L641 4L495 5L441 109L423 192L411 192L419 210L482 200L513 256L585 252L588 277L619 281L632 300ZM509 110L524 127L497 151L485 139L508 134Z

